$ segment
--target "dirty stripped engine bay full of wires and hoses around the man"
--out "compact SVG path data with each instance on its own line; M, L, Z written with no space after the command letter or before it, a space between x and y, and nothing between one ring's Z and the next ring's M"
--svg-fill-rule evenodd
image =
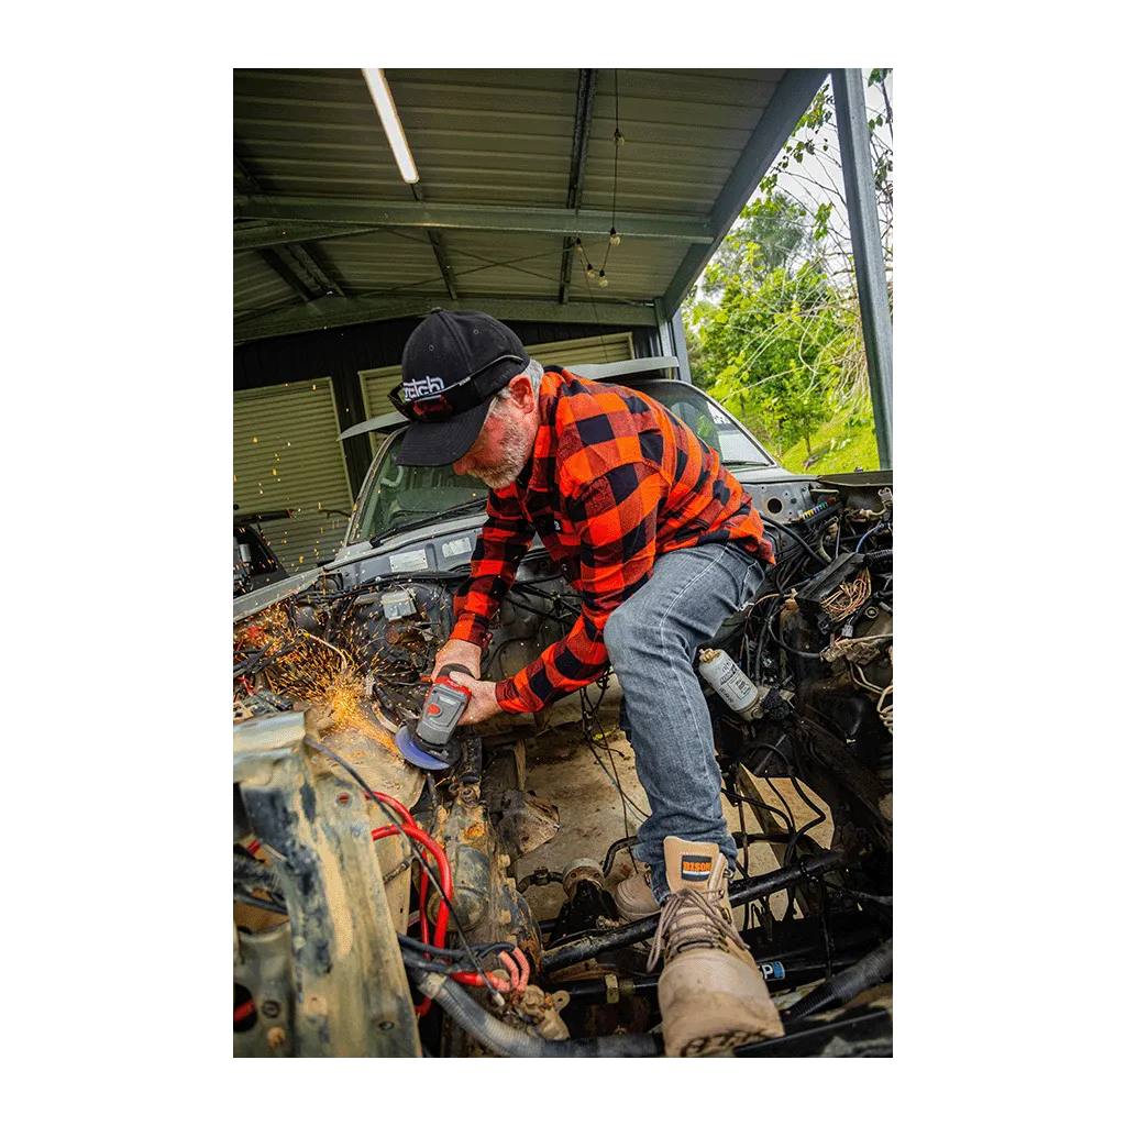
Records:
M887 1062L892 479L811 479L774 506L777 490L762 489L749 491L777 562L698 654L739 826L731 905L786 1028L733 1058ZM467 574L438 557L327 570L232 627L231 1057L659 1057L658 976L646 972L656 920L619 919L611 894L636 843L615 777L626 759L609 749L628 743L613 670L545 713L457 729L447 770L420 770L395 748L419 722ZM528 552L482 678L518 672L579 611L547 553ZM529 781L548 742L592 753L607 806L626 814L595 856L588 835L572 847L553 795ZM632 823L641 815L634 806ZM819 842L813 830L830 824ZM565 863L537 863L549 842ZM769 863L752 866L752 850ZM536 906L547 886L552 917Z

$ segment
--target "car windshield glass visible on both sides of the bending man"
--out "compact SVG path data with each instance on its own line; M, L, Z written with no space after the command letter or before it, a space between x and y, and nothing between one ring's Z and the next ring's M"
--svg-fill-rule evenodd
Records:
M690 384L661 379L638 390L667 406L716 449L724 465L774 464L722 406ZM406 530L437 522L458 509L473 511L484 506L489 486L479 477L458 476L450 465L397 465L401 444L400 432L384 447L375 480L368 483L359 518L348 537L350 544L386 536L396 528Z

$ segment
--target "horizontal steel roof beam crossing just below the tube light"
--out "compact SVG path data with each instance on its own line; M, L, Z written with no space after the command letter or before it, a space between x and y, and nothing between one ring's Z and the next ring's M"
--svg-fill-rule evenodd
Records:
M564 207L488 207L477 204L391 203L361 199L342 202L319 199L315 196L235 195L234 214L240 218L268 218L282 223L304 221L354 226L369 223L372 226L441 227L572 236L605 234L613 222L623 238L671 239L705 245L718 241L712 223L704 218L629 212L618 212L614 215L600 211L580 211L577 214Z

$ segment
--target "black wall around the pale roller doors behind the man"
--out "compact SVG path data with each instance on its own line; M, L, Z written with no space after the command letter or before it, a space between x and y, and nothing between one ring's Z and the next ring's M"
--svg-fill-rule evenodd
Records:
M240 345L230 354L231 390L272 387L282 383L328 376L336 391L340 429L346 430L366 418L357 372L402 363L403 346L418 323L419 319L412 316L401 321L355 324ZM613 324L536 324L527 321L506 321L506 324L526 345L575 340L600 333L633 332L634 349L638 356L660 355L660 338L655 329ZM388 404L387 410L390 409ZM364 474L367 473L369 448L367 435L345 441L345 458L348 462L354 495L358 495Z

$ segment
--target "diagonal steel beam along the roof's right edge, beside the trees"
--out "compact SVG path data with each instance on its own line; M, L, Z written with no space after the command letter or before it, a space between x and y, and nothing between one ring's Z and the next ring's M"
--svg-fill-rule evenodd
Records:
M685 254L664 293L665 309L679 309L688 296L828 74L829 69L820 64L802 64L786 71L712 208L708 224L715 236L707 245L691 247Z

